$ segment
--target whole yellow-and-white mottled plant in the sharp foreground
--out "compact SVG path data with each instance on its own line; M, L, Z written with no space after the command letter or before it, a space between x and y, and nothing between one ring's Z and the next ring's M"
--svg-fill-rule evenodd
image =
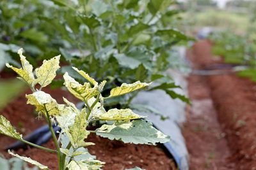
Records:
M56 71L60 68L60 55L50 60L44 60L42 66L36 68L35 73L33 73L33 66L22 54L22 49L18 53L22 67L17 68L10 64L6 64L6 66L19 74L19 79L25 81L31 88L33 93L26 95L27 103L35 106L38 115L44 117L48 123L56 150L24 140L22 134L17 132L3 115L0 115L0 133L47 152L56 153L59 169L100 169L104 165L104 162L93 159L88 150L84 148L94 145L94 143L84 141L92 132L104 138L124 141L124 143L156 145L157 142L165 143L170 140L168 136L157 131L150 122L145 120L145 117L134 113L130 109L113 108L106 111L104 108L104 101L148 87L148 83L141 83L140 81L132 84L124 83L120 87L111 89L108 97L103 97L101 92L106 85L106 81L98 83L84 71L73 67L77 73L88 81L81 84L69 76L68 73L63 76L68 91L84 102L84 108L78 110L75 104L70 103L65 98L63 98L65 104L58 104L50 94L42 90L50 85L55 78ZM97 120L106 121L108 124L102 125L95 131L86 129L90 123ZM58 124L61 127L58 138L52 129L52 124ZM49 169L29 157L17 155L10 150L8 152L40 169Z

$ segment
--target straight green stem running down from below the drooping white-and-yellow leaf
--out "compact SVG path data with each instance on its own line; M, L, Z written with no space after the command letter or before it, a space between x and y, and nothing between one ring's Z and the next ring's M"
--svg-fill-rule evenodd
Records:
M52 122L51 122L51 118L49 116L49 113L45 107L45 104L44 104L44 109L45 109L45 113L46 113L46 119L47 119L47 122L48 122L48 126L49 126L49 129L51 131L51 134L52 134L52 138L53 138L53 141L54 141L54 145L56 146L56 152L57 152L57 156L58 156L58 164L59 164L59 169L60 170L63 170L63 167L64 167L64 164L65 162L62 161L62 153L60 152L60 145L58 144L58 140L56 138L56 135L55 135L55 132L52 128Z

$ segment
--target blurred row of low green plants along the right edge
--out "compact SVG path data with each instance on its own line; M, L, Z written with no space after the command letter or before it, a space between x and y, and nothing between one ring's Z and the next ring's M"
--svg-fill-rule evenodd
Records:
M245 66L243 70L237 71L237 75L252 81L256 81L255 32L249 29L243 36L232 32L217 32L211 36L214 42L212 52L223 57L224 62Z

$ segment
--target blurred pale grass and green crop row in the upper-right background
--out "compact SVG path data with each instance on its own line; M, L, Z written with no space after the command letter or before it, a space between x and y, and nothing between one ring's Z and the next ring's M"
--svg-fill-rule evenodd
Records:
M204 27L211 30L212 53L224 62L239 66L237 74L256 81L256 1L188 0L180 3L180 29L191 36ZM223 2L222 2L223 3Z

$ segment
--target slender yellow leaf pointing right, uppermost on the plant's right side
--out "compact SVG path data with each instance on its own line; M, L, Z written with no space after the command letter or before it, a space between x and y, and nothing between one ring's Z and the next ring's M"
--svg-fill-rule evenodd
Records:
M121 96L129 92L133 92L135 90L141 89L143 87L147 87L148 85L150 84L141 83L140 81L136 81L135 83L132 83L132 84L122 83L120 87L116 87L110 91L109 97Z

